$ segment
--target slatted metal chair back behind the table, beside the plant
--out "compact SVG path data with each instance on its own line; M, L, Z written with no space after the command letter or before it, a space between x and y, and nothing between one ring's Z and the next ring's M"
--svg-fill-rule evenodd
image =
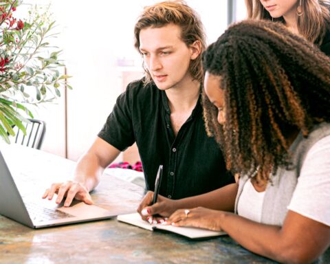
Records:
M23 146L40 149L43 144L43 136L46 131L46 123L42 120L30 119L30 123L26 123L26 135L21 130L14 127L16 133L14 142Z

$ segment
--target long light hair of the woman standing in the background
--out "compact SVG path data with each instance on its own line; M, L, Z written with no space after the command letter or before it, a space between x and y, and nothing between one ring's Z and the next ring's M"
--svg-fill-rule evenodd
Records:
M298 4L298 1L297 1ZM322 44L322 39L330 22L329 0L302 0L303 15L297 16L298 30L311 43ZM250 19L272 20L270 13L263 8L260 0L245 0ZM285 23L283 17L274 19Z

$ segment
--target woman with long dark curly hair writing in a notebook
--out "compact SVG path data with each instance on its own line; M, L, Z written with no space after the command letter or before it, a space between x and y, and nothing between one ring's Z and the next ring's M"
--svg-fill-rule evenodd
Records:
M158 197L142 214L186 208L168 223L224 230L276 261L314 261L330 245L330 59L281 24L243 21L208 47L203 67L206 129L239 184Z

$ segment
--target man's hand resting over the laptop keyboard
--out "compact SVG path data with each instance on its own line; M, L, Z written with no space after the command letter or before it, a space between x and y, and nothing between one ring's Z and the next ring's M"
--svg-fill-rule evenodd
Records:
M64 203L65 207L70 206L73 199L83 201L87 204L93 204L87 188L77 181L66 181L64 183L52 184L52 186L43 194L43 199L47 197L49 200L52 200L55 193L57 194L56 203L61 203L63 198L66 197Z

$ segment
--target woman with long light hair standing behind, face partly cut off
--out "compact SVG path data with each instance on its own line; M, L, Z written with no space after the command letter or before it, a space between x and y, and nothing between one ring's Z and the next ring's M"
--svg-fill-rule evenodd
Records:
M245 0L248 17L281 21L330 56L329 0Z

